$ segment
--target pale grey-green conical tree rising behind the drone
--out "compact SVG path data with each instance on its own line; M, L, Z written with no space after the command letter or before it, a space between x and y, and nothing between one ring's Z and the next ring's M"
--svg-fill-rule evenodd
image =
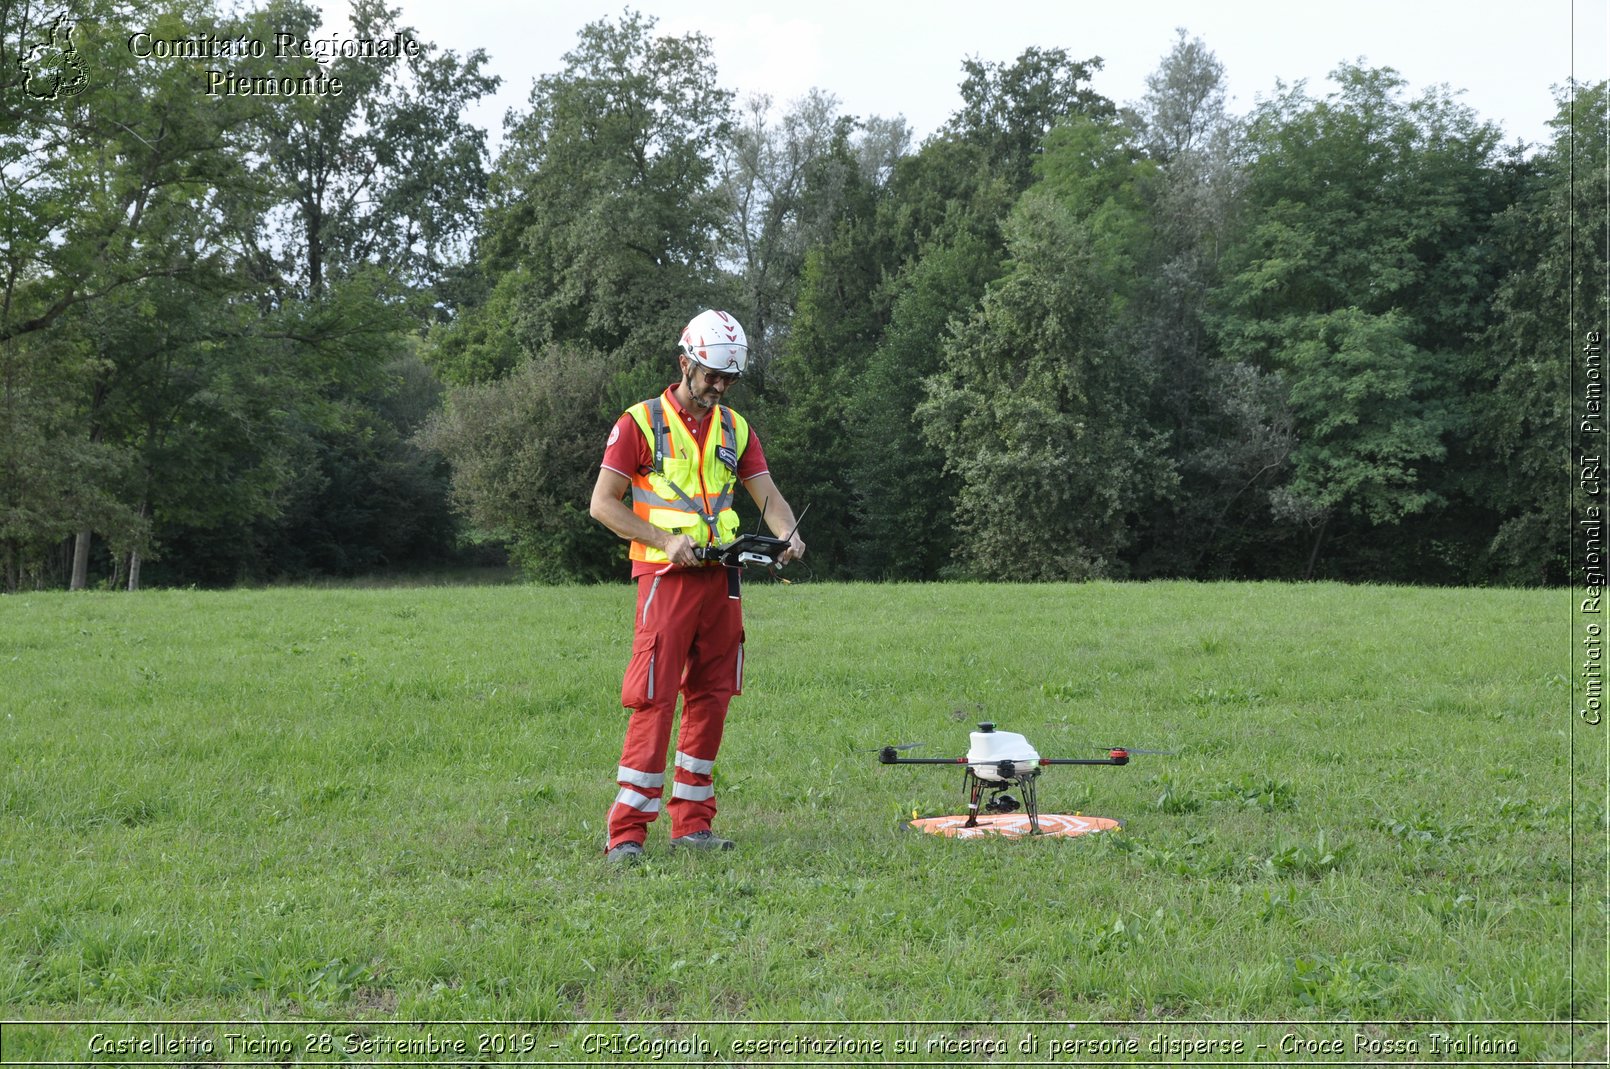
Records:
M1138 174L1111 124L1075 119L1006 224L1006 274L953 330L918 409L956 481L958 559L992 580L1121 575L1130 517L1174 485L1117 345ZM1085 179L1085 175L1095 175Z

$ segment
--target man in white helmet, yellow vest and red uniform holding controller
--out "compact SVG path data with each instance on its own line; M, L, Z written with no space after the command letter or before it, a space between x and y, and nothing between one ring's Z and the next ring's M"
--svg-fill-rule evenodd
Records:
M592 486L589 512L631 541L638 580L631 660L620 692L633 712L615 771L620 792L609 810L604 848L610 861L639 860L658 816L678 691L683 720L665 805L671 848L733 848L710 831L716 811L710 773L726 705L744 687L742 602L729 596L726 567L699 560L694 549L737 536L733 491L742 483L771 531L789 539L779 563L805 552L760 440L721 404L747 359L736 319L718 311L696 316L681 336L681 380L615 422Z

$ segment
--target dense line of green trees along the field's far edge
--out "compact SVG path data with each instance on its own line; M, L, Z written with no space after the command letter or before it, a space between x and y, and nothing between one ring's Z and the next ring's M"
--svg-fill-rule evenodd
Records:
M3 11L19 79L10 50L48 27ZM1565 578L1604 85L1560 90L1538 147L1356 64L1235 116L1182 31L1122 106L1098 58L966 60L913 145L824 90L736 100L707 39L628 10L491 159L460 118L494 89L481 53L224 97L206 61L130 55L134 21L90 0L55 55L82 84L0 103L6 589L475 546L621 576L586 515L602 438L710 306L749 328L733 402L811 506L818 578ZM291 0L140 19L317 23ZM349 37L393 34L354 5Z

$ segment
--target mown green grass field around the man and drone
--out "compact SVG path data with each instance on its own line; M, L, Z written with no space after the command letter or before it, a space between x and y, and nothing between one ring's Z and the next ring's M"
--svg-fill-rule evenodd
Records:
M615 871L631 610L0 599L0 1061L1602 1064L1565 592L753 584L739 850L671 856L662 819ZM863 750L956 755L977 720L1177 755L1045 773L1043 810L1121 832L902 829L960 773Z

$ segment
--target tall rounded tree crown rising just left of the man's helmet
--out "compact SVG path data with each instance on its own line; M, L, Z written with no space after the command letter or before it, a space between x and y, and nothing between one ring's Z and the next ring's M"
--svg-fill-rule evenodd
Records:
M449 380L567 345L623 353L628 372L650 362L644 385L687 319L728 293L716 150L731 137L731 93L707 37L654 26L630 10L588 24L510 121L481 227L493 293L438 338Z

